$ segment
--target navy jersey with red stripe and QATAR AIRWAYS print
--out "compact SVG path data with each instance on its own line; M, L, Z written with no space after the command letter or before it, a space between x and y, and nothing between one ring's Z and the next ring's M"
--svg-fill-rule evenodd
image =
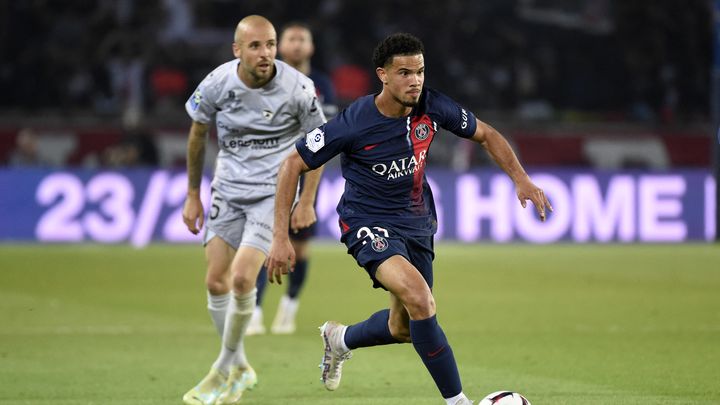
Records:
M425 166L439 127L469 138L475 133L475 116L444 94L425 88L410 115L389 118L378 111L375 95L368 95L309 132L295 147L311 169L342 154L345 191L337 211L343 232L372 223L411 235L432 235L437 222Z

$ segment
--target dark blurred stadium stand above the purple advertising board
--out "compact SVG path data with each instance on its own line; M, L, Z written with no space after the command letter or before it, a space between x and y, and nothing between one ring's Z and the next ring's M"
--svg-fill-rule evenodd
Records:
M3 1L0 162L31 129L38 164L182 167L185 99L232 58L247 14L309 23L314 64L345 104L378 89L378 40L418 35L426 84L493 123L528 166L711 164L708 0ZM431 163L487 164L473 145L438 139ZM123 145L157 156L123 158Z

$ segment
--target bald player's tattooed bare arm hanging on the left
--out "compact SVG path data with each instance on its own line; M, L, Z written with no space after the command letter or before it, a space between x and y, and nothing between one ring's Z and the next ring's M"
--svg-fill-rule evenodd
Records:
M187 173L188 191L183 206L183 222L188 230L197 235L203 227L205 210L200 200L200 183L205 160L205 143L209 126L193 121L188 134Z

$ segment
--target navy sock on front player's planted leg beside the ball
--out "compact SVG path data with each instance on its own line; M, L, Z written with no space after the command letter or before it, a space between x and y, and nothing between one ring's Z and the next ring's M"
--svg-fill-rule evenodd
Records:
M462 392L455 356L436 316L411 320L410 337L443 398L452 398Z

